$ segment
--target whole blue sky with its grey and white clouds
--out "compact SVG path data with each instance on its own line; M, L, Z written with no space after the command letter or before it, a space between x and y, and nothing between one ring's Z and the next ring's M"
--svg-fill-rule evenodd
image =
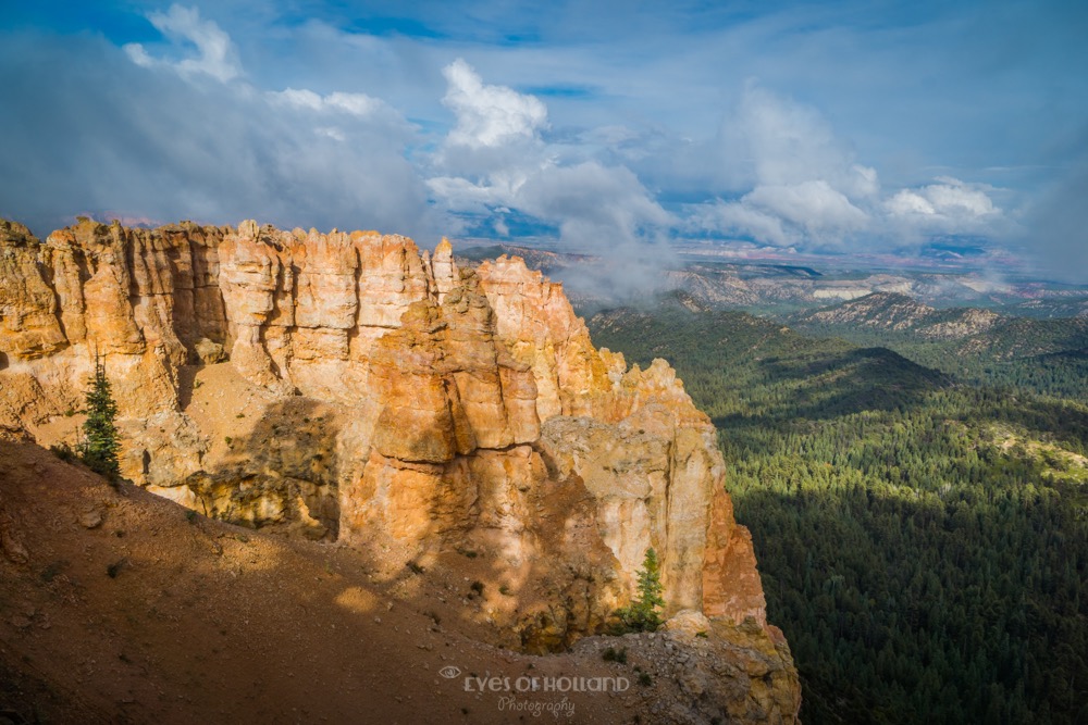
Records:
M0 8L0 214L910 255L1088 280L1088 3Z

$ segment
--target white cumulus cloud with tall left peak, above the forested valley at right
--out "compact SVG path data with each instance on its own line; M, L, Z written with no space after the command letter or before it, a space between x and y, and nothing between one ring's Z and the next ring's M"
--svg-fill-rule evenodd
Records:
M722 179L737 195L689 208L689 229L776 246L892 246L926 236L992 234L1007 223L982 185L940 177L882 191L815 110L754 84L722 125Z

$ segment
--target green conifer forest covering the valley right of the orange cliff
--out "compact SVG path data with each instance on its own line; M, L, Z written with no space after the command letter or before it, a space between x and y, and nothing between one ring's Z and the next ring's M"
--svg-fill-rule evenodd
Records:
M720 432L806 723L1088 722L1088 409L742 313L613 311Z

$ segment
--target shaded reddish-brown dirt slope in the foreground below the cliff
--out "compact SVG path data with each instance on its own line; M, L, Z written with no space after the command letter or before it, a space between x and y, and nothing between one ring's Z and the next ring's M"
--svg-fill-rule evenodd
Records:
M347 547L114 490L27 443L0 442L0 714L14 723L504 723L549 707L566 722L758 720L747 693L781 675L758 637L731 672L703 673L721 661L713 633L502 650L482 643L500 639L485 612L502 595L472 591L469 558L381 571ZM627 664L604 661L610 646ZM509 684L466 691L473 675ZM545 690L564 676L629 686Z

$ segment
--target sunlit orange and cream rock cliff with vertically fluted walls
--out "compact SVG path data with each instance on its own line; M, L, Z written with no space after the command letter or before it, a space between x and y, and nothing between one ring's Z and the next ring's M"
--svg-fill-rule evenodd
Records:
M669 613L772 629L709 420L664 361L596 350L518 258L461 270L445 240L255 222L0 225L0 432L50 442L96 353L125 475L185 505L405 561L491 552L561 603L510 615L527 645L597 629L648 547Z

